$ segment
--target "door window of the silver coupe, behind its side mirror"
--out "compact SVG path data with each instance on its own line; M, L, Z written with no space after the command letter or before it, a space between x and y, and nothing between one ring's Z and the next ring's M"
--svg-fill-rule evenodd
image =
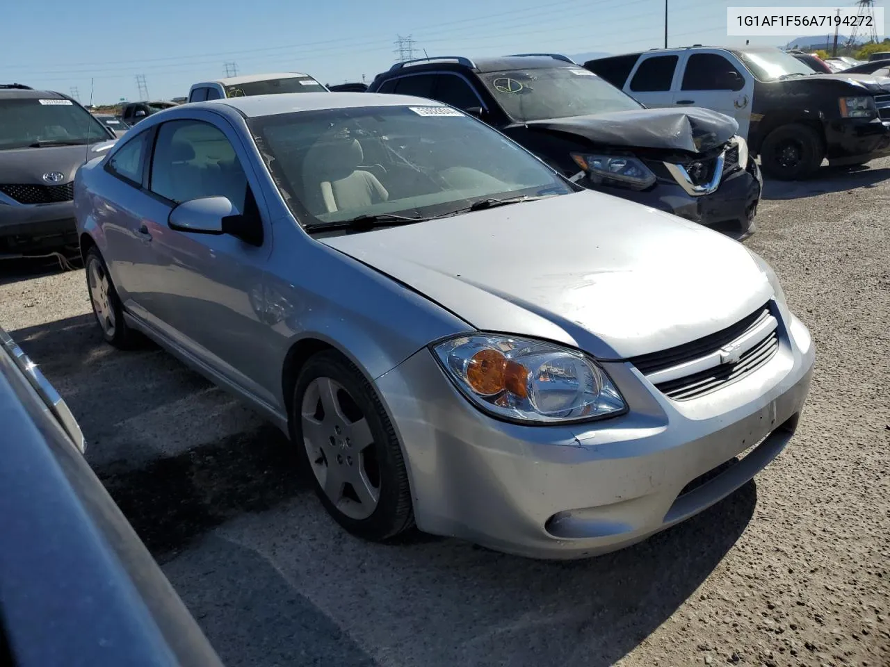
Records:
M174 120L158 128L149 188L176 204L199 197L229 197L243 212L247 176L219 128Z

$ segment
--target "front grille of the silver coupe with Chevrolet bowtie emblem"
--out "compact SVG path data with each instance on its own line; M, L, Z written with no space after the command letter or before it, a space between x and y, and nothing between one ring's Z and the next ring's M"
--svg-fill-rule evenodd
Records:
M667 397L689 400L753 373L778 349L778 321L766 303L721 331L629 361Z

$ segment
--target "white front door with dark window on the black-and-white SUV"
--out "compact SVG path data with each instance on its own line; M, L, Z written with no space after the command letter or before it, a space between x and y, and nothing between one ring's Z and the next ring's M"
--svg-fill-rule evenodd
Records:
M685 56L674 104L714 109L735 118L748 138L754 77L732 53L695 51Z

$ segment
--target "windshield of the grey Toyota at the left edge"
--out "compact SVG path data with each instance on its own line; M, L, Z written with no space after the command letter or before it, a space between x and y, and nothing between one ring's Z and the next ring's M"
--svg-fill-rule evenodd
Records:
M0 100L0 150L108 141L109 134L71 100Z

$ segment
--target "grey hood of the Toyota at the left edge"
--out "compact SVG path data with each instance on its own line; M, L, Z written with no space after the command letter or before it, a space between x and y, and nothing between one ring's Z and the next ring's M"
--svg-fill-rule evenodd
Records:
M61 185L74 179L77 167L105 155L114 141L101 141L90 146L46 146L42 149L0 150L0 183L45 185L44 173L58 172L64 178L50 185Z

